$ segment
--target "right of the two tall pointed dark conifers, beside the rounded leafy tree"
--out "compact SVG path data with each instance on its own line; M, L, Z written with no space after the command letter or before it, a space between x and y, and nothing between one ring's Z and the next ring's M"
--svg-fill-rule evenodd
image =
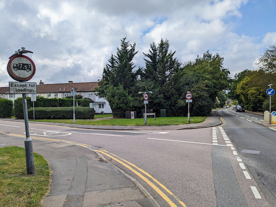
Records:
M140 90L153 91L149 100L149 107L157 114L160 109L166 109L168 115L173 115L175 100L178 97L177 77L181 63L174 57L176 52L169 50L168 40L161 39L158 47L155 43L150 45L148 54L145 54L146 68L140 69ZM142 88L141 88L142 86Z

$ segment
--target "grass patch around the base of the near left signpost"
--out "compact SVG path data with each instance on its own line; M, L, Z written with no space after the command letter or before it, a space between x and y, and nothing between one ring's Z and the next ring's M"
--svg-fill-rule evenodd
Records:
M35 173L27 175L25 149L0 148L0 206L43 206L49 190L50 167L43 156L34 153Z

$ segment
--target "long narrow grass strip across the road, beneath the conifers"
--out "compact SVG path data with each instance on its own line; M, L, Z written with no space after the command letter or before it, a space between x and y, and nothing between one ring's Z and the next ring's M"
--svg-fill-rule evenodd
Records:
M190 117L190 124L200 123L206 119L204 117ZM32 121L32 120L30 120ZM51 122L51 123L67 123L67 124L81 124L81 125L107 125L107 126L145 126L144 119L108 119L108 120L89 120L89 119L76 119L73 123L72 119L40 119L35 121ZM166 126L166 125L179 125L189 124L187 117L158 117L156 121L154 118L147 119L147 126Z

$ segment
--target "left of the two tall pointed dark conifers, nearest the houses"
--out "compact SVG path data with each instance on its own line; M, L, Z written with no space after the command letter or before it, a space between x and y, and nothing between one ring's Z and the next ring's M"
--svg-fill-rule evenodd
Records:
M117 48L116 56L111 55L109 64L103 68L102 80L95 89L97 96L104 97L108 101L113 117L124 117L125 111L133 110L135 105L133 100L138 100L134 93L138 75L133 70L135 67L133 57L136 54L135 43L131 45L126 38L123 38L120 48Z

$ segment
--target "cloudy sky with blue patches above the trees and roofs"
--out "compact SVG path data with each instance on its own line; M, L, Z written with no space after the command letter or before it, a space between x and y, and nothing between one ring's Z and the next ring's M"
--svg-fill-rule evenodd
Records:
M124 37L136 69L163 38L182 63L219 53L234 76L276 44L275 11L275 0L0 0L0 87L14 81L7 63L21 47L36 65L29 82L97 81Z

